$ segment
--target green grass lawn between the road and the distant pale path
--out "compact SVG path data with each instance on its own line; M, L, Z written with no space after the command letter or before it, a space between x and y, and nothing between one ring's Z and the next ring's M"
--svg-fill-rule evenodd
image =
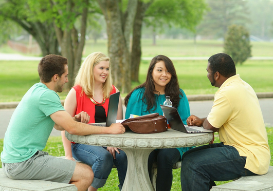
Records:
M173 61L180 87L186 95L214 94L217 88L212 87L207 79L207 61ZM142 61L139 81L146 79L150 61ZM20 101L26 91L38 83L38 61L0 61L0 102ZM243 65L236 66L237 73L249 83L256 92L272 92L273 60L248 60ZM139 83L133 83L132 88ZM59 93L65 99L67 91ZM126 94L122 94L125 97Z

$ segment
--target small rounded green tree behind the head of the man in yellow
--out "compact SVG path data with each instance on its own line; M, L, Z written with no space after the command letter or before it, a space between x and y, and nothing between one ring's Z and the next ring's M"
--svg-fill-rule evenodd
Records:
M231 25L225 37L224 52L235 64L243 64L251 56L249 32L243 26Z

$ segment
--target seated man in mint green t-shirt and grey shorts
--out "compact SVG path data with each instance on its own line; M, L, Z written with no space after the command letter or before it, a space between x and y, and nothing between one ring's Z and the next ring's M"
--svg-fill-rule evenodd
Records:
M92 168L83 163L49 156L42 151L53 127L75 135L119 134L120 123L110 127L90 126L86 112L74 118L64 110L57 92L68 82L67 59L50 54L38 65L40 83L24 95L12 114L5 133L1 161L4 174L11 179L48 180L75 184L86 190L92 183Z

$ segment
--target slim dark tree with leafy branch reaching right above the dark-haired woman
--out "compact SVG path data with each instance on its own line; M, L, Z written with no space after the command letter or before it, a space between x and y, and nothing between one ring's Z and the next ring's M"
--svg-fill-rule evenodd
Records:
M202 20L206 10L204 0L146 0L138 1L137 14L134 21L131 75L138 82L138 71L141 58L141 28L145 23L154 29L166 24L195 31L195 26Z

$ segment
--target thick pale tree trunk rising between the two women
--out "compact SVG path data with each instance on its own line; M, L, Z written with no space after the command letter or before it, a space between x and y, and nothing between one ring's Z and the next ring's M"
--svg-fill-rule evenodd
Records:
M108 55L111 58L113 83L122 93L131 90L130 34L137 10L137 0L97 0L105 17Z

